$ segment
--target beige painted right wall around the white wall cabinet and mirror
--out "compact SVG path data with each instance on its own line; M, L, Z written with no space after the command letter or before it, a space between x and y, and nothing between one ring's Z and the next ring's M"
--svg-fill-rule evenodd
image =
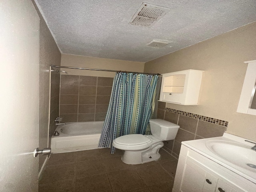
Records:
M227 132L256 140L256 116L237 113L247 64L256 59L256 22L145 63L144 72L204 70L198 106L166 107L228 121Z

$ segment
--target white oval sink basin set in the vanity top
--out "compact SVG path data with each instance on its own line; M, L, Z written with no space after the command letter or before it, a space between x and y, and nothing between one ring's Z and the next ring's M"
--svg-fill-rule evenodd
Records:
M209 140L206 146L220 158L256 173L256 151L250 146L222 140Z

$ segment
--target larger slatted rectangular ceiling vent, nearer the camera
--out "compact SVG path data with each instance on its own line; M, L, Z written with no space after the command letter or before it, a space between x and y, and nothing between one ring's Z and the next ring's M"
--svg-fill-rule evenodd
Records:
M169 10L169 8L160 7L148 3L142 3L129 23L132 25L151 27Z

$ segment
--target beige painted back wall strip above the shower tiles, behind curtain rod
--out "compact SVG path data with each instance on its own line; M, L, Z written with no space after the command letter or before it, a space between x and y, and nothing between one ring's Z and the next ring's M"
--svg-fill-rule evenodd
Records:
M132 71L132 72L143 72L144 62L133 62L133 61L123 61L116 59L105 59L96 57L86 57L78 55L61 55L61 66L70 67L82 67L82 68L94 68L94 69L108 69L108 70L122 70L122 71ZM92 71L92 70L78 70L78 69L67 69L65 70L70 75L84 75L84 76L98 76L98 77L114 77L114 72L102 72L102 71Z

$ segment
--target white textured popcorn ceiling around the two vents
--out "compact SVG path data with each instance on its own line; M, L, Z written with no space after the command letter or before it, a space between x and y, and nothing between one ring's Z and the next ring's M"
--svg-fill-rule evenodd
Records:
M138 62L256 21L256 0L148 0L170 8L151 28L129 24L141 0L35 2L62 53ZM147 47L153 39L172 43L163 48Z

